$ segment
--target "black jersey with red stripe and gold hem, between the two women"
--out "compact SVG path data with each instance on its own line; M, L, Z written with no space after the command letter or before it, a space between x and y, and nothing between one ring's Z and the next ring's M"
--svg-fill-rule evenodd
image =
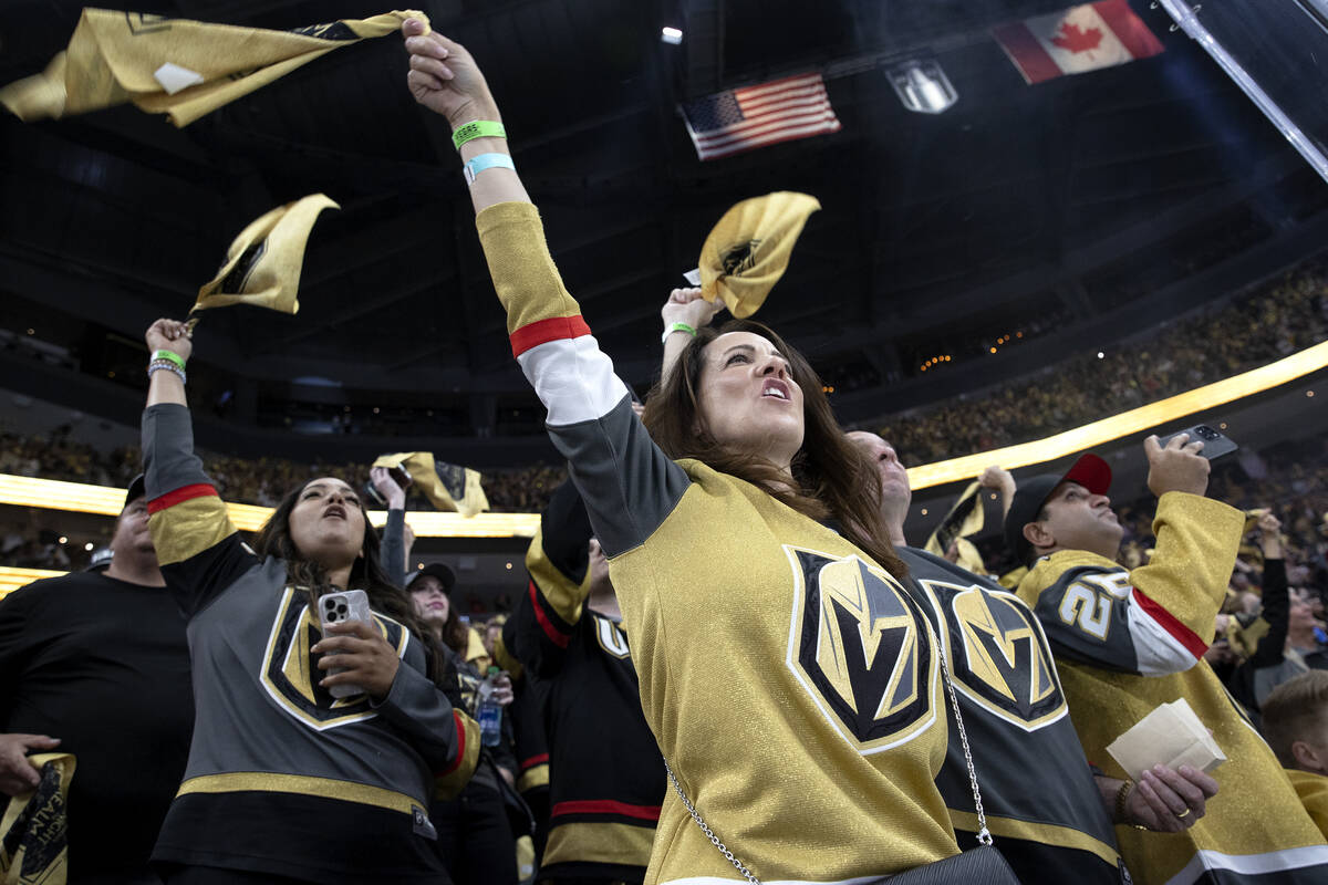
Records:
M526 555L531 580L503 634L543 695L542 874L641 881L664 799L664 764L641 714L627 634L584 605L590 535L580 496L564 483ZM530 778L538 762L523 760L522 768Z

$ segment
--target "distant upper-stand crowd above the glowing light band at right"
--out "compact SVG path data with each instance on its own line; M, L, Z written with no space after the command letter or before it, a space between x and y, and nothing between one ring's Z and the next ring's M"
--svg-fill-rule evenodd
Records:
M1328 268L1313 263L1211 313L1085 353L985 394L886 418L908 466L1040 439L1220 381L1328 338Z

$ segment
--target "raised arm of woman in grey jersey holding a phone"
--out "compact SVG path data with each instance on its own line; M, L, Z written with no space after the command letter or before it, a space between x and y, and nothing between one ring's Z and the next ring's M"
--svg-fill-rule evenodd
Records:
M142 425L147 525L162 577L193 617L258 560L239 540L194 454L185 398L185 365L194 345L185 324L158 320L145 338L153 352Z

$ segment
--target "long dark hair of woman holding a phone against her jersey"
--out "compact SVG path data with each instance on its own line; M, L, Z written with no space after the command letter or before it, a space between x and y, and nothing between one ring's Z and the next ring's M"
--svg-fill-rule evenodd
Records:
M312 479L305 480L288 491L272 515L263 523L263 528L259 529L258 537L254 540L254 549L259 556L275 556L286 563L286 580L297 588L305 588L311 606L317 602L323 593L333 589L328 584L327 569L320 563L300 553L291 537L291 511L299 503L305 486L312 482ZM356 503L356 507L364 516L364 556L351 567L351 577L345 582L347 589L364 590L369 597L369 608L401 624L424 644L428 650L425 655L428 658L428 675L441 685L449 678L446 655L437 640L433 638L433 633L420 622L410 596L388 577L382 568L378 532L369 524L369 513L364 510L364 504Z

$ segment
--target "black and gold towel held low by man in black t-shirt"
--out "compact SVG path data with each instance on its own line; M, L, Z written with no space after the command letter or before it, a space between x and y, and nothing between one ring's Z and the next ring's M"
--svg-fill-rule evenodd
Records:
M0 819L0 874L4 885L65 885L69 820L66 801L76 760L70 752L29 756L41 783L9 799Z

